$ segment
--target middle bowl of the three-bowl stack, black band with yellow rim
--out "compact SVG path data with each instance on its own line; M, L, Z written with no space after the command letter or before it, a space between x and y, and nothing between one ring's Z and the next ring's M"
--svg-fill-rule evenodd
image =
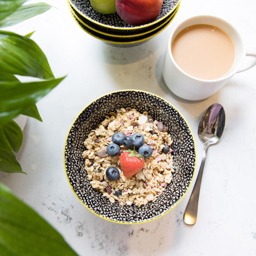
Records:
M75 10L74 7L69 3L70 11L71 13L76 17L76 19L79 20L80 23L88 27L89 29L92 29L93 31L97 33L101 33L106 36L114 36L114 37L135 37L140 35L145 35L147 33L153 32L156 29L159 29L164 24L168 23L169 20L176 14L178 8L180 7L180 2L177 3L177 5L172 9L172 11L169 12L168 15L165 15L165 17L158 22L150 25L150 26L144 26L142 28L137 29L116 29L116 28L110 28L103 26L101 24L92 22L89 19L84 18L83 15L81 15L78 11Z

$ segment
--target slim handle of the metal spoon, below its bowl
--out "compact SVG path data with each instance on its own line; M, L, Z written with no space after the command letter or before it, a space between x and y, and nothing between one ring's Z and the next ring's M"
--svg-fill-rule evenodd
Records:
M202 162L198 172L197 180L195 181L194 189L191 193L189 202L187 203L187 207L184 212L183 220L187 225L194 225L195 222L197 221L198 200L199 200L201 181L203 177L203 168L204 168L204 164L206 163L206 153L207 153L207 147L204 146L203 158L202 158Z

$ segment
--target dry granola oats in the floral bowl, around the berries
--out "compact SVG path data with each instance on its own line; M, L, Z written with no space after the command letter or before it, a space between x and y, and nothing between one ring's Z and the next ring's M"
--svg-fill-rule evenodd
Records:
M140 207L154 202L172 180L174 171L172 150L168 153L162 152L165 145L170 147L172 144L167 130L162 122L154 121L147 112L140 114L136 109L122 108L117 113L105 116L105 120L84 141L87 150L83 152L83 158L92 187L103 193L112 203L135 204ZM106 153L106 147L112 143L112 135L117 132L125 136L140 133L144 136L144 143L153 150L152 156L145 159L143 169L131 178L126 178L120 168L120 155L126 148L120 146L120 155L115 157ZM118 180L109 181L106 178L105 172L109 167L120 170Z

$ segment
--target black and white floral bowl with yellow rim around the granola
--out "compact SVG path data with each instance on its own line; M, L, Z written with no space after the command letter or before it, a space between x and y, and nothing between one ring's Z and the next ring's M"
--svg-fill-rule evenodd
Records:
M147 111L153 118L168 126L172 136L173 180L155 202L143 206L121 206L92 188L84 169L82 153L84 139L105 116L120 108ZM122 224L144 223L167 214L184 198L194 177L196 150L193 134L184 117L174 106L149 92L123 90L94 100L80 112L66 138L64 163L67 180L76 197L97 216Z

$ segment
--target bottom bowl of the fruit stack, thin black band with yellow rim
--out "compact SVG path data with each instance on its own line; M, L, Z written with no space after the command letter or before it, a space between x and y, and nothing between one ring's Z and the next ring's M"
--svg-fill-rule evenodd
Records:
M139 35L139 36L133 36L133 37L116 37L116 36L109 36L109 35L104 35L103 33L96 32L95 30L87 27L84 25L80 20L72 13L72 17L74 18L75 22L79 25L80 28L83 29L83 31L87 32L89 35L96 37L97 39L103 40L105 42L109 42L110 44L116 44L118 45L125 45L125 46L134 46L136 44L143 43L149 39L151 39L153 36L156 36L158 33L163 31L169 24L172 22L174 16L176 15L176 12L174 12L172 18L168 20L167 23L162 25L161 27L155 29L152 32L148 32L144 35Z

